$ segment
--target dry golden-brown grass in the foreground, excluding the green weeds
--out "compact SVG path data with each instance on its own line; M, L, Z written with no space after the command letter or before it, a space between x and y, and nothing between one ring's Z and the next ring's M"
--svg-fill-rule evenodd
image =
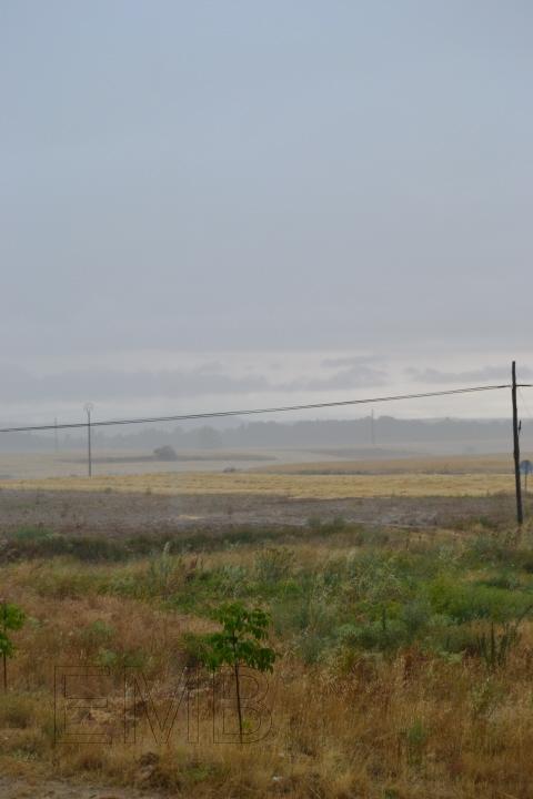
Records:
M441 538L450 546L447 536ZM346 556L326 542L292 549L290 563L305 569ZM58 558L1 568L2 593L29 615L9 664L9 695L0 698L2 770L199 798L531 797L530 623L505 667L496 670L480 658L443 657L415 644L390 655L355 651L349 658L332 650L305 665L290 640L280 638L269 699L273 728L265 740L243 748L213 742L204 676L199 742L187 741L182 712L170 740L157 742L142 705L137 741L124 742L122 669L145 675L164 715L190 664L187 635L210 629L197 613L165 604L177 590L187 593L191 568L220 567L230 577L235 568L264 569L253 546L210 553L200 564L192 555L158 563L140 559L119 567ZM276 557L270 568L283 564ZM109 669L108 707L81 720L86 729L105 729L111 745L54 745L54 667L79 665Z

